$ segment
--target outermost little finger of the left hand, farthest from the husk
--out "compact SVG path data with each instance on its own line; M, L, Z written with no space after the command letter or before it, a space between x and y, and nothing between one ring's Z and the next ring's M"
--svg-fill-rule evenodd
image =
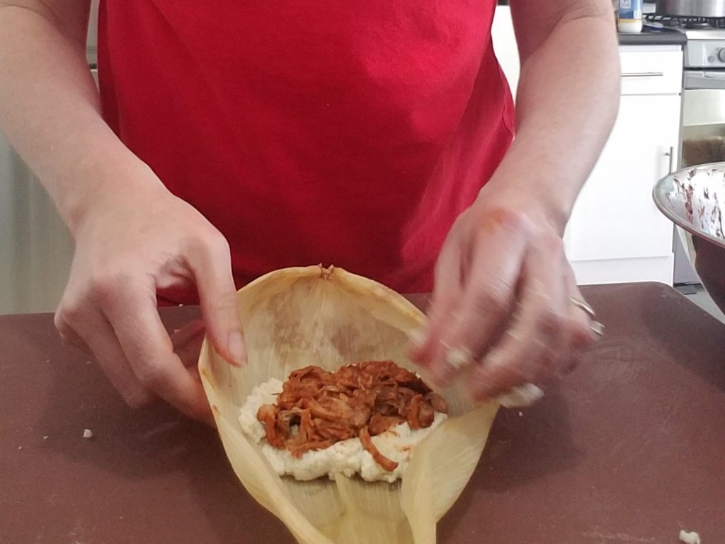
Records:
M94 355L128 406L138 408L152 401L154 397L136 378L113 328L101 311L92 306L80 309L61 304L55 314L55 326L62 338L69 339L75 346L83 346L84 351Z

